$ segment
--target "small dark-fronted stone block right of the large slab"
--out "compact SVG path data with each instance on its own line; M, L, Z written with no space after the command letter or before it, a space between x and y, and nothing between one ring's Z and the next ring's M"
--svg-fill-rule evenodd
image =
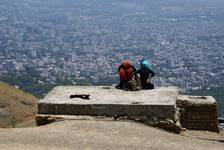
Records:
M219 132L217 104L213 97L180 95L177 106L182 127Z

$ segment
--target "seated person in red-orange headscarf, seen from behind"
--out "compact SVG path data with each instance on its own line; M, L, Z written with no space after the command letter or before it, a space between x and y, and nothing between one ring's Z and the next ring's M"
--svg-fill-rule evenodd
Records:
M116 88L135 90L135 73L136 69L129 61L123 61L118 67L118 72L120 76L120 84Z

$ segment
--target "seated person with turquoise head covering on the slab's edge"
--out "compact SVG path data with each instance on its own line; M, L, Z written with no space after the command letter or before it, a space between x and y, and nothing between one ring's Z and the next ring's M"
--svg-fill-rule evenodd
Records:
M141 68L136 74L140 74L142 89L154 89L154 84L150 82L150 78L155 76L155 73L152 71L151 63L143 59L140 66Z

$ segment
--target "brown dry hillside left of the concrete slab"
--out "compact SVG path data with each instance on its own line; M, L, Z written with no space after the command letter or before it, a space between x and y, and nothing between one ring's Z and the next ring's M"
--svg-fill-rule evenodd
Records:
M36 113L36 97L0 82L0 127L16 127L34 119Z

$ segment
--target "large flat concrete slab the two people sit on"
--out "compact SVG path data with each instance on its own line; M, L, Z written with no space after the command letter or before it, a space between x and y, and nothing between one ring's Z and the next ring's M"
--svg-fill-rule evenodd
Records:
M102 86L59 86L38 102L37 118L41 119L37 122L51 121L52 115L107 116L179 131L178 95L175 87L124 91Z

